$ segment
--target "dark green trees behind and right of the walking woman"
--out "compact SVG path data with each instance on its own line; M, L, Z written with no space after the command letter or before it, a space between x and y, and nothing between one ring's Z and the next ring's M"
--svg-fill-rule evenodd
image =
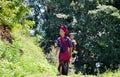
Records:
M66 24L70 32L77 33L79 61L76 68L93 74L96 62L100 62L101 72L107 68L117 69L120 62L120 11L114 6L112 0L46 1L43 25L46 35L41 46L49 52L59 37L60 25Z

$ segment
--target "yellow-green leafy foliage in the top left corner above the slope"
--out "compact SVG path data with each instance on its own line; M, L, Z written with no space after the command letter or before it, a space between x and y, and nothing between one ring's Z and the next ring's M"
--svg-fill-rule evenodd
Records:
M0 25L8 25L11 28L16 27L16 24L21 24L21 27L33 26L33 21L26 20L29 9L22 0L0 1Z

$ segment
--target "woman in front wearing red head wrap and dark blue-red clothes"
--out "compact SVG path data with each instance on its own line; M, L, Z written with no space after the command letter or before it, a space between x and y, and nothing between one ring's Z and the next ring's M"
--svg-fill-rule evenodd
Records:
M72 55L72 42L68 34L68 29L65 25L60 27L60 37L57 39L56 55L59 51L59 75L68 75L68 65Z

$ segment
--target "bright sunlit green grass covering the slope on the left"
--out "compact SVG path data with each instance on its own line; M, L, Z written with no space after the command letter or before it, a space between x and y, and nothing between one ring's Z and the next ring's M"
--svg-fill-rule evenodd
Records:
M0 77L30 77L33 75L55 75L56 67L50 65L42 49L37 45L35 38L21 34L20 31L12 33L14 43L0 41L0 51L4 58L0 60ZM19 49L23 55L19 55ZM14 52L14 53L13 53ZM15 56L16 55L16 56ZM11 59L10 59L11 58ZM37 77L37 76L35 76Z

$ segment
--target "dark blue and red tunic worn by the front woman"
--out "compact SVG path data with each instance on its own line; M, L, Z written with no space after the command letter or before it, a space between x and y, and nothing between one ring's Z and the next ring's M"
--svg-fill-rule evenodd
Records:
M69 48L72 47L72 42L69 37L59 37L57 39L57 46L60 47L59 52L59 63L67 60L70 63L70 51Z

